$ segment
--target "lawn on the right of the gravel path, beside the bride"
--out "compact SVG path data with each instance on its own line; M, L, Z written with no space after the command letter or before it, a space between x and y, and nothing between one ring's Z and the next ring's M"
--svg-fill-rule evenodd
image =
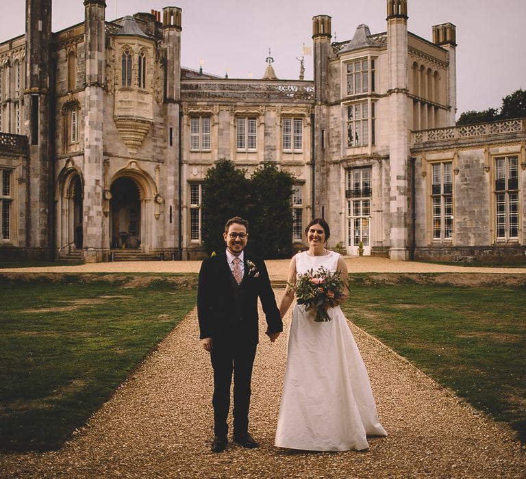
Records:
M347 318L526 442L525 285L366 279L350 276Z

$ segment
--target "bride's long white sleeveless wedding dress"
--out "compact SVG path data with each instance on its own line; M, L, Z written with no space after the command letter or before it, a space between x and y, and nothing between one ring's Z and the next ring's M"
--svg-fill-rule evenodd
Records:
M298 274L324 266L336 271L340 255L296 255ZM275 445L310 451L368 448L366 436L386 436L371 383L339 306L331 321L314 322L316 311L295 305Z

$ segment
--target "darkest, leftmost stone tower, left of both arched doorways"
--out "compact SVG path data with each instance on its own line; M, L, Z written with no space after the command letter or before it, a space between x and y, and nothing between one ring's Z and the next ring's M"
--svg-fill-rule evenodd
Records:
M23 133L29 137L27 216L25 246L29 257L53 250L53 190L51 177L50 116L51 0L26 1L25 118ZM22 218L21 218L22 219Z

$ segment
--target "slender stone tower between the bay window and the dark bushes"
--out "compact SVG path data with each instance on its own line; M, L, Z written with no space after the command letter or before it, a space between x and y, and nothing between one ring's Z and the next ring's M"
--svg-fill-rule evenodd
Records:
M181 152L179 148L179 129L181 112L181 9L166 7L162 10L162 32L166 44L164 57L166 105L166 233L164 248L179 250L182 243L182 211L181 211ZM180 259L180 258L179 258Z

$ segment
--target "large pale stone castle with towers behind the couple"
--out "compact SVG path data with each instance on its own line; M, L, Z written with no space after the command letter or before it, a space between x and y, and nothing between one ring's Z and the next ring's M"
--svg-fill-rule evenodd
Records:
M295 175L298 245L323 216L348 255L525 261L526 119L455 127L455 25L412 34L407 0L344 42L314 16L314 81L270 54L261 79L181 66L176 7L108 21L84 0L53 33L51 0L26 5L0 44L0 258L203 257L202 183L227 158Z

